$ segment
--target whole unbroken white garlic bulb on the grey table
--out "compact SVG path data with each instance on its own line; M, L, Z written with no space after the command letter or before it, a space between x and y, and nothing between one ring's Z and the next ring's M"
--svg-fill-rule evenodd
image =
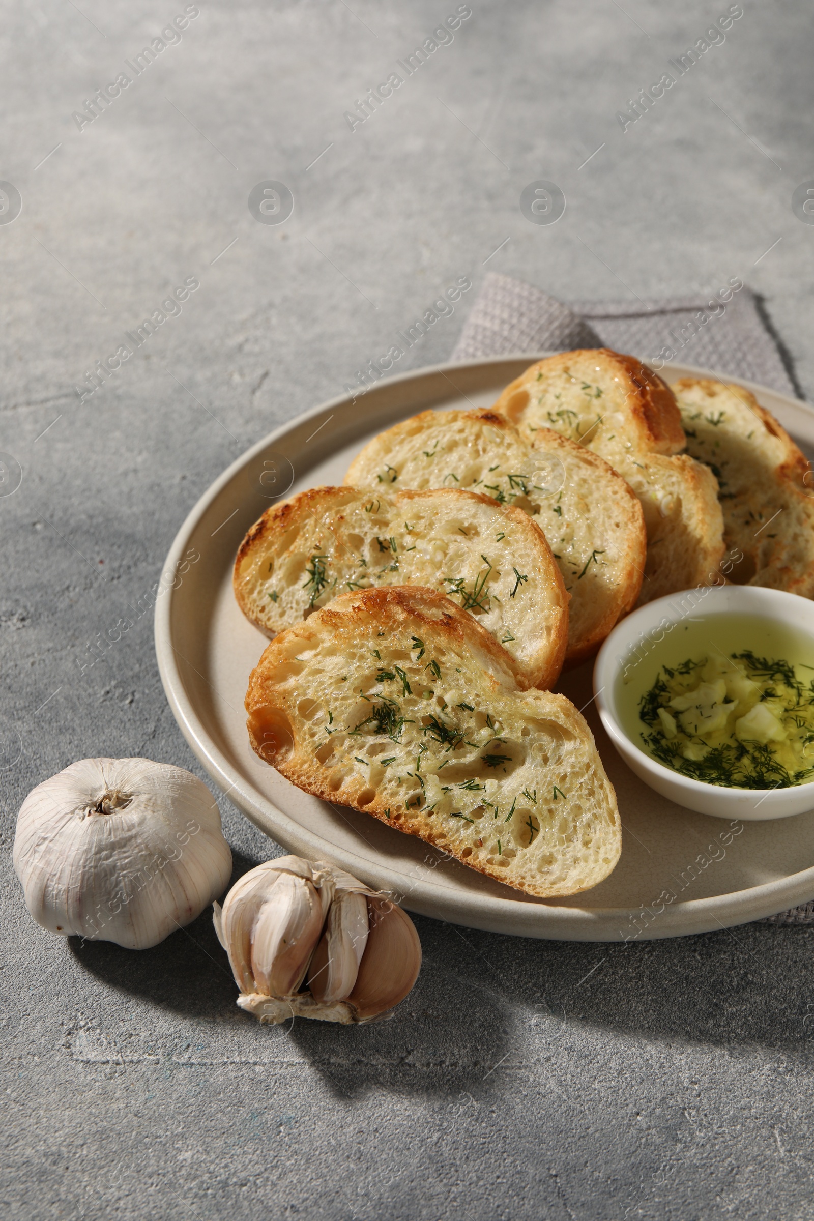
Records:
M13 864L43 928L145 950L223 893L232 852L215 799L190 772L100 758L28 794Z

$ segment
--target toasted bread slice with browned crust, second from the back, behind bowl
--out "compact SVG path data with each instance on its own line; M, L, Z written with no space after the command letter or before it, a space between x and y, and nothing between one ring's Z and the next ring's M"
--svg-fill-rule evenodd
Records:
M724 554L718 486L685 453L672 391L635 357L586 348L548 357L494 404L528 437L555 429L600 454L638 496L647 525L639 603L710 585Z

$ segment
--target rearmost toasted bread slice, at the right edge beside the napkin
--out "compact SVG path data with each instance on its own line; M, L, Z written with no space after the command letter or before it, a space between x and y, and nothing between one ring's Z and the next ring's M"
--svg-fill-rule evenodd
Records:
M814 597L814 486L804 454L741 386L682 377L674 389L687 449L720 485L730 581Z

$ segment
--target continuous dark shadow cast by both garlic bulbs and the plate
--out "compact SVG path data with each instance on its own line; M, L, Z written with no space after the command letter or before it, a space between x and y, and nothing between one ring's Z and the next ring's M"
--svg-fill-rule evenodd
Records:
M236 853L234 877L254 863ZM621 945L415 923L423 947L416 987L393 1018L362 1027L298 1021L260 1029L236 1009L209 911L153 950L68 944L110 987L189 1021L229 1022L237 1059L304 1061L338 1096L387 1085L466 1105L472 1090L499 1090L524 1057L563 1054L561 1040L583 1024L766 1050L799 1048L814 1027L814 928L759 923Z

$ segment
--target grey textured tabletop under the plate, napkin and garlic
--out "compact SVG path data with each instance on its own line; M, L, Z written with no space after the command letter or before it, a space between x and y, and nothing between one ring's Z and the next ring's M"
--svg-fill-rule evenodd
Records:
M28 917L10 860L22 797L76 758L199 772L150 614L99 634L133 618L233 458L459 277L587 300L740 276L810 396L814 228L791 203L814 173L810 12L744 7L622 132L616 112L726 4L472 0L409 77L397 61L455 4L201 0L138 76L183 4L4 5L0 178L22 199L4 223L0 198L0 490L22 469L0 498L4 1216L814 1214L812 928L625 947L419 919L395 1020L287 1033L237 1010L209 916L140 955L66 943ZM122 72L92 122L72 117ZM266 179L294 195L284 223L247 206ZM536 179L565 193L555 225L520 211ZM126 332L189 277L137 348ZM474 295L400 368L445 359ZM221 806L238 871L277 851Z

